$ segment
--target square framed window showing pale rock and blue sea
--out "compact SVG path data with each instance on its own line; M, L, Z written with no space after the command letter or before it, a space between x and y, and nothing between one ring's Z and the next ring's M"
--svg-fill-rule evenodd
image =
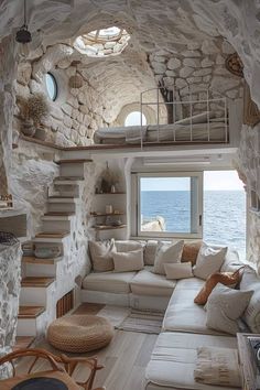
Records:
M202 174L137 174L140 236L202 237Z

